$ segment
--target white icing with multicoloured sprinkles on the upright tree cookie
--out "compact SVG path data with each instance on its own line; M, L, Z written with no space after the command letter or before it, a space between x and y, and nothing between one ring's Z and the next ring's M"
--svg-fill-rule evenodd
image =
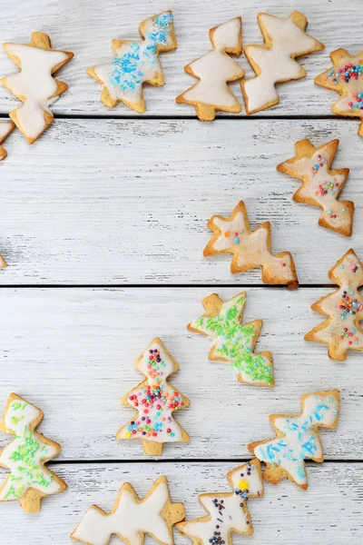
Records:
M161 362L155 362L150 367L150 357L155 354L151 351L159 352ZM148 346L137 368L147 377L147 385L131 392L128 402L138 411L138 415L123 426L117 434L118 439L182 441L182 428L172 417L172 411L183 406L182 395L166 381L173 372L174 364L160 342L152 342ZM159 393L150 396L148 389L154 392L155 388ZM145 401L142 402L143 400ZM136 433L132 433L133 430Z

